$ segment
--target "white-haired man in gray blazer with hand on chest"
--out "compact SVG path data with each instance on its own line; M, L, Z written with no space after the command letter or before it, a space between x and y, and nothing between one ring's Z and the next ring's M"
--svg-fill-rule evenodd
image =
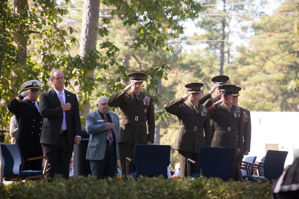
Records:
M92 178L115 177L119 147L116 143L119 119L109 111L107 97L97 98L97 110L85 116L86 132L90 135L86 159L90 162Z

